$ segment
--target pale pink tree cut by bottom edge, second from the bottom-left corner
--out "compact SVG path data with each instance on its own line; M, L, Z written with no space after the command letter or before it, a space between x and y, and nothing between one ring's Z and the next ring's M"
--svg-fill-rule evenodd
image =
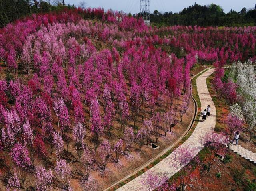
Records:
M36 190L51 191L54 175L51 170L46 170L43 166L36 167Z

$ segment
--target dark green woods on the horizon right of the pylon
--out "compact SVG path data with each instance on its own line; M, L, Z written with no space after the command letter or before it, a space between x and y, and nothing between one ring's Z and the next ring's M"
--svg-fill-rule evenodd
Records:
M255 6L256 8L256 6ZM215 4L202 6L194 4L184 8L179 13L158 12L151 14L151 22L156 25L185 25L185 26L254 26L256 24L256 9L242 8L240 12L223 9Z

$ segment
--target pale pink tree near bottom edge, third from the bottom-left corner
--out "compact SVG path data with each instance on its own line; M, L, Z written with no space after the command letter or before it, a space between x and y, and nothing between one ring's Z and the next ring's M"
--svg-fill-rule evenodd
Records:
M71 191L72 188L70 187L70 180L72 172L70 165L64 159L57 160L55 172L61 183L61 188L66 191Z

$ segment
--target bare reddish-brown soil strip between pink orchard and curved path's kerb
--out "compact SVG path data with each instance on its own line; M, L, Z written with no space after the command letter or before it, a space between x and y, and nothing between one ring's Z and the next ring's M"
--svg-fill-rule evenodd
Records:
M158 139L157 143L159 149L154 150L148 145L142 146L142 151L139 151L137 148L133 148L129 156L121 156L118 163L108 163L105 172L92 172L92 179L97 180L99 185L97 190L100 191L106 189L116 181L126 177L128 174L132 173L135 169L146 163L148 160L154 158L172 143L176 142L176 140L178 140L178 138L180 138L180 136L182 136L182 134L186 131L193 117L194 104L192 100L190 100L189 108L186 114L184 114L182 117L182 122L178 122L178 124L172 128L172 132L167 133L167 136L164 136L164 132L162 132L163 136ZM154 138L152 137L152 139ZM75 182L74 184L78 185L78 183ZM77 190L82 191L82 189L78 187Z

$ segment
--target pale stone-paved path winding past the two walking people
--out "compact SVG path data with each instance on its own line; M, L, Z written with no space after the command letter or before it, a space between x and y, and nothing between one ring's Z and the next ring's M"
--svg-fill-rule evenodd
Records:
M178 150L182 148L191 148L194 156L196 156L198 152L202 150L203 148L202 141L201 141L202 137L206 133L214 130L215 123L216 123L216 108L208 92L207 84L206 84L206 78L208 78L213 72L214 72L214 69L209 69L208 71L204 72L202 75L200 75L196 79L196 86L197 86L197 91L198 91L198 95L201 102L201 108L204 109L204 108L207 108L208 105L210 105L211 116L207 118L205 122L198 122L194 132L188 138L188 140L186 140L168 157L160 161L158 164L156 164L154 167L152 167L142 175L128 182L126 185L118 188L117 191L149 191L148 188L143 187L141 183L144 177L147 176L149 173L158 174L160 178L164 178L165 176L170 178L175 173L178 172L178 170L172 165L174 163L179 162L177 159L175 159L176 158L174 154L175 152L178 152ZM182 167L184 167L184 165Z

